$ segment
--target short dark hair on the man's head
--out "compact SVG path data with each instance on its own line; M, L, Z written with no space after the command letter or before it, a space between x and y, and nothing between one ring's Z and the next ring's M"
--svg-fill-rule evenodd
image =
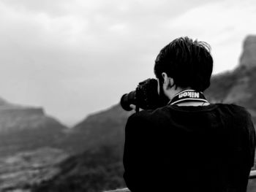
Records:
M162 81L162 72L172 77L176 87L205 91L210 86L213 59L211 47L189 37L180 37L162 48L154 65L154 74Z

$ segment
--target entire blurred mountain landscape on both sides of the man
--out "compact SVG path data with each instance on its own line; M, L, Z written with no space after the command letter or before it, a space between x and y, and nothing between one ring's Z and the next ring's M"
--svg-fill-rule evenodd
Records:
M246 107L256 123L256 36L240 64L212 77L206 97ZM118 101L116 101L118 102ZM124 126L131 112L116 104L72 128L42 108L0 100L0 191L103 191L124 187ZM255 124L256 126L256 124ZM187 159L189 161L189 159ZM249 191L256 184L249 182Z

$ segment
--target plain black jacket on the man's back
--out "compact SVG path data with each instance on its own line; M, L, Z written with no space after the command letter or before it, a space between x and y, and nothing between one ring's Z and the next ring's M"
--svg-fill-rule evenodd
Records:
M251 116L235 104L169 105L127 120L124 180L132 192L245 192L254 157Z

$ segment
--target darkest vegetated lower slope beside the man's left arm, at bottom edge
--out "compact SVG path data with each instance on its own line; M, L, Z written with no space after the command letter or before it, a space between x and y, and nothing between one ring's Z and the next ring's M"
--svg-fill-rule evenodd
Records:
M121 157L114 146L101 146L59 164L53 179L34 185L34 192L98 192L124 186Z

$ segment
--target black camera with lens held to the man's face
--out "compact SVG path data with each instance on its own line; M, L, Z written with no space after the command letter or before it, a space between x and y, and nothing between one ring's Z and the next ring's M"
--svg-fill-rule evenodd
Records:
M158 107L162 107L165 104L162 103L159 94L157 93L157 80L148 79L143 82L139 82L135 91L126 93L121 97L121 107L124 110L132 110L129 107L130 104L135 104L136 111L139 108L143 110L155 110Z

